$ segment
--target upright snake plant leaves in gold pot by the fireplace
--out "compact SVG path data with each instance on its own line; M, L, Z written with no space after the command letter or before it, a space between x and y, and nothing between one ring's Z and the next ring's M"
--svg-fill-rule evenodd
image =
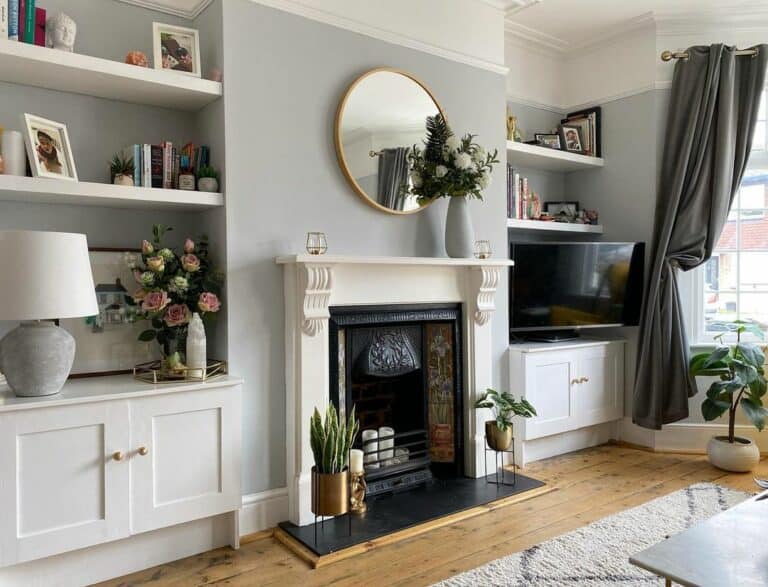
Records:
M354 407L347 422L339 421L339 414L332 403L328 404L325 418L315 408L309 420L309 442L318 473L333 475L346 469L349 449L355 442L359 427Z

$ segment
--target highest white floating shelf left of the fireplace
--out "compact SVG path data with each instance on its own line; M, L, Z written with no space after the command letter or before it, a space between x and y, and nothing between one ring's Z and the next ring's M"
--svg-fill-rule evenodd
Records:
M0 81L188 111L222 95L220 82L12 41L0 41Z

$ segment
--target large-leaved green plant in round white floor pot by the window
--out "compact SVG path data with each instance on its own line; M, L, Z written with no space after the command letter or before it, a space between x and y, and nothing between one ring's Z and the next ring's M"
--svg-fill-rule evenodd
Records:
M728 435L714 436L707 445L709 462L719 469L733 472L751 471L760 461L760 451L749 438L736 436L736 412L744 411L755 428L762 430L768 409L763 407L766 380L763 365L765 353L759 345L742 342L745 332L763 338L763 332L752 323L736 321L736 344L723 343L723 333L717 337L720 343L708 353L694 355L690 361L693 377L716 377L707 390L707 397L701 404L701 415L707 422L728 413Z

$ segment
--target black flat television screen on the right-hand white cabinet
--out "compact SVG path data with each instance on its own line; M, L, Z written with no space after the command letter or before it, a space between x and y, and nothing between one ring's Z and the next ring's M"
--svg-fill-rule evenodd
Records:
M510 332L636 326L645 243L512 243Z

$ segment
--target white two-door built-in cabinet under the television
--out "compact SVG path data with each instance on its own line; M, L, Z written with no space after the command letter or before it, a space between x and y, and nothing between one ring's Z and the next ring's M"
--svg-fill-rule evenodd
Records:
M535 406L521 422L533 440L619 420L623 416L624 341L515 344L510 381Z

